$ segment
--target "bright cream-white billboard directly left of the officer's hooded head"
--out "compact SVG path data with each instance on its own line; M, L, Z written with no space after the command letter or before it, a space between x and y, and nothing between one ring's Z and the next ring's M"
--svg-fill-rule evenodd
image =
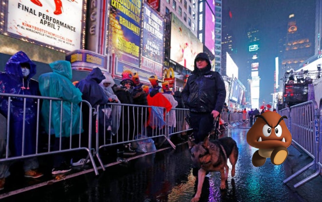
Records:
M170 60L193 71L194 58L203 52L203 44L173 13L171 13L170 40Z

